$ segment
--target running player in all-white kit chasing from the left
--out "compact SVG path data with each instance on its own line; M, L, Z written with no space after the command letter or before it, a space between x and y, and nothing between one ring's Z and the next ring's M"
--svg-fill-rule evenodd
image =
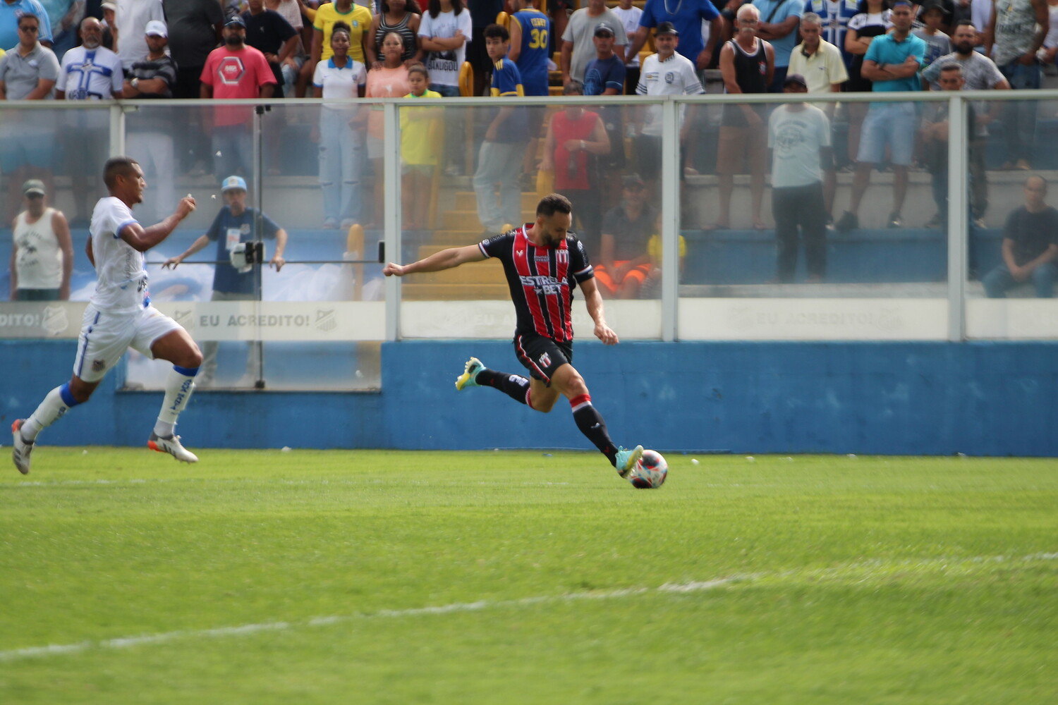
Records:
M185 463L198 461L183 447L174 429L180 412L195 390L195 375L202 353L177 321L150 305L143 253L164 241L195 210L190 196L180 200L177 210L161 223L144 227L132 216L132 206L143 201L147 182L143 169L128 156L107 162L103 180L110 196L99 199L92 212L87 254L95 266L95 293L85 309L77 355L70 382L48 392L29 419L12 424L15 467L30 471L30 454L37 434L70 410L84 404L128 348L147 357L172 363L165 384L165 400L147 447L167 452Z

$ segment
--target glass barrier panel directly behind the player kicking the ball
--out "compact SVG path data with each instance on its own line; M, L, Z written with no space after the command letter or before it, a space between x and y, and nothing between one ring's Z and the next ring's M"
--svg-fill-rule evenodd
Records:
M649 256L657 210L647 184L634 175L626 115L635 116L617 100L509 109L400 106L402 261L533 223L541 199L559 192L571 203L572 231L596 268L607 320L624 329L623 337L658 337L660 284L650 276ZM635 182L628 190L639 189L632 200L623 198L628 178ZM625 208L636 210L631 222ZM537 263L527 266L545 276ZM415 275L402 281L401 292L404 337L504 339L515 328L507 279L495 262ZM576 334L590 335L576 292L572 313Z

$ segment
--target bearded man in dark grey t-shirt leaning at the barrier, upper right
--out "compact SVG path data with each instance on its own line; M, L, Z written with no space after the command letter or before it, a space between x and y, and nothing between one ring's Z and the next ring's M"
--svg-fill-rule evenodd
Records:
M970 20L960 20L951 34L954 52L942 56L923 71L923 82L927 90L941 90L937 80L941 68L957 63L963 71L964 89L967 91L1010 90L1010 84L1000 72L996 63L984 54L974 51L978 31ZM975 125L970 135L970 207L974 224L984 227L985 211L988 209L988 172L985 169L985 147L988 140L988 125L999 117L1003 103L978 101L974 106ZM931 221L927 225L938 225Z

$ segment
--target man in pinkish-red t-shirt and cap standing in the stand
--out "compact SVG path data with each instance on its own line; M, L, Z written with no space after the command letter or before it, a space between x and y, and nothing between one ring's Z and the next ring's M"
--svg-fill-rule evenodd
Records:
M203 98L271 98L275 75L264 55L245 43L247 25L238 15L224 24L224 45L206 57L202 69ZM252 173L253 107L227 106L213 114L213 167L221 179Z

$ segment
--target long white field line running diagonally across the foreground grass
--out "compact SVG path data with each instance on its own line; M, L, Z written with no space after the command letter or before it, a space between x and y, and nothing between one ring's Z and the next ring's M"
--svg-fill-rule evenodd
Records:
M20 661L23 658L36 658L42 656L57 656L71 653L80 653L90 649L124 649L134 646L146 646L151 644L164 644L177 639L211 639L224 636L244 636L260 632L286 631L288 629L298 629L303 627L324 627L329 625L343 624L353 620L383 619L397 617L414 617L421 615L452 614L457 612L479 612L481 610L503 609L509 607L529 607L533 605L562 604L580 600L614 599L618 597L628 597L631 595L655 594L687 594L708 592L717 588L732 586L735 583L753 582L767 578L788 578L795 576L804 577L827 577L840 575L851 571L873 569L873 568L904 568L904 567L942 567L956 565L959 563L1004 563L1004 562L1033 562L1058 560L1058 553L1036 553L1020 558L1010 556L972 556L968 558L924 558L908 559L902 561L891 560L865 560L844 565L818 569L813 571L784 571L777 573L746 573L732 575L729 577L714 578L712 580L701 580L693 582L680 582L658 586L656 588L622 588L618 590L598 590L591 592L566 593L563 595L537 595L535 597L523 597L519 599L505 600L478 600L475 602L452 602L434 607L416 607L403 610L378 610L376 612L365 612L361 614L331 615L311 617L297 621L264 621L259 624L240 625L237 627L218 627L216 629L188 629L159 634L143 634L141 636L123 636L104 641L86 641L76 644L50 644L48 646L35 646L22 649L11 649L0 651L0 663Z

